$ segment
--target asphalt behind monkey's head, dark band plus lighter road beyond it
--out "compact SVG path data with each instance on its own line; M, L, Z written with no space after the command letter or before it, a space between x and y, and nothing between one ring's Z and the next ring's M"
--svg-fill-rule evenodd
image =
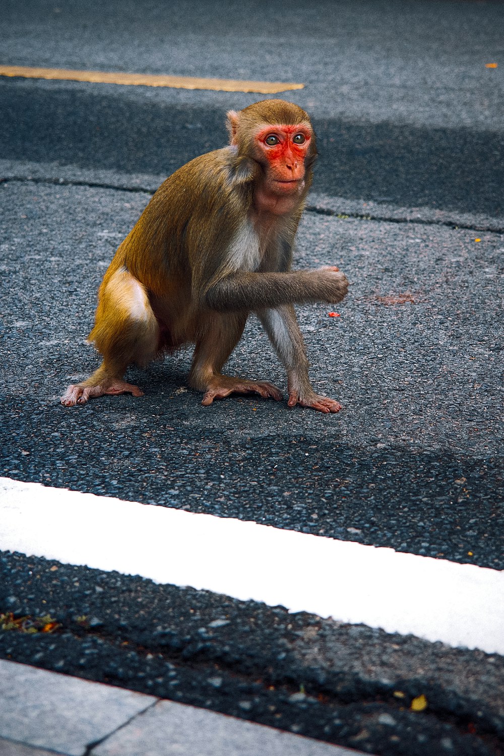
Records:
M494 2L2 4L2 62L299 81L317 191L504 214L504 12ZM135 20L133 22L133 20ZM168 175L260 95L0 77L0 156ZM173 135L177 135L173 138Z

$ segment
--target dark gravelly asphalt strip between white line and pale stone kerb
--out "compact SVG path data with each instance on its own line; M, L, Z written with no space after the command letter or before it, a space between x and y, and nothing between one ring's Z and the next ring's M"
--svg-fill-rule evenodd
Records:
M373 754L502 753L498 655L45 559L0 572L0 611L60 623L0 631L4 658Z

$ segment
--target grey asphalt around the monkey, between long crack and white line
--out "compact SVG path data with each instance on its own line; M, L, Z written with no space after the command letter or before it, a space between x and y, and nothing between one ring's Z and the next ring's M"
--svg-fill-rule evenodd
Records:
M180 390L189 350L130 371L144 398L65 411L66 383L97 364L84 339L100 278L150 195L0 191L5 474L502 569L502 233L338 217L337 203L305 213L295 265L336 264L351 281L339 318L298 308L314 386L342 401L338 415L254 398L200 407ZM285 384L254 318L227 370Z

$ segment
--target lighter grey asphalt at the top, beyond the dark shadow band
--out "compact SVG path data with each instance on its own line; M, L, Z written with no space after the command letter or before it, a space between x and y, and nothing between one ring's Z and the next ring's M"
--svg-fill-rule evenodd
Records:
M502 67L485 68L502 60L501 2L4 0L2 13L2 62L11 65L303 82L288 98L321 118L502 134ZM53 89L26 83L32 94L39 87ZM123 89L131 107L143 105L146 125L153 102L194 104L184 90ZM210 109L256 99L197 95Z

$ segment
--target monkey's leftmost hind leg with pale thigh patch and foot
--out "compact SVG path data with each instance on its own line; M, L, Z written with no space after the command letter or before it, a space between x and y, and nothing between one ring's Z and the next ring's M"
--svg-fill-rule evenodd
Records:
M159 324L146 290L125 268L102 284L89 341L94 342L104 361L87 380L69 386L61 404L73 407L104 394L143 396L144 392L126 383L123 376L129 364L144 366L156 356Z

